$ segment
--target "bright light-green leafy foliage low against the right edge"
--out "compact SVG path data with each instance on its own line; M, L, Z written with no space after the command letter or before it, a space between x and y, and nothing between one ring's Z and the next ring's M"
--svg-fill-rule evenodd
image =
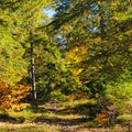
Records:
M124 78L125 77L125 78ZM131 76L123 75L119 81L107 86L106 97L109 98L120 113L131 113L132 81Z

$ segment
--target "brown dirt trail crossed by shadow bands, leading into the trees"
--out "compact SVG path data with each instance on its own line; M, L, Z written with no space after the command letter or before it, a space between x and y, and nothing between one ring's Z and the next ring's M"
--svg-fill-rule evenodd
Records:
M72 109L63 109L56 105L51 105L44 108L51 113L54 113L53 117L42 118L36 121L37 123L47 123L58 125L61 132L85 132L88 131L88 128L82 127L82 123L87 120L86 116L77 116L72 113Z

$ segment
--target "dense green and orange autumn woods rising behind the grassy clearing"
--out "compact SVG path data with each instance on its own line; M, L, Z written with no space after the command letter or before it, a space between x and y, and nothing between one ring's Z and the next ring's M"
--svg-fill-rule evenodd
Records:
M0 109L84 98L95 125L132 121L132 1L1 0Z

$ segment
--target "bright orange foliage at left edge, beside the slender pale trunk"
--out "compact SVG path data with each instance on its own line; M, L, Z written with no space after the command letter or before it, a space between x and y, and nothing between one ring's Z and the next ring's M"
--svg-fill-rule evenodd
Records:
M8 87L0 81L0 109L9 109L13 105L18 105L23 98L29 95L30 86L16 84L15 86Z

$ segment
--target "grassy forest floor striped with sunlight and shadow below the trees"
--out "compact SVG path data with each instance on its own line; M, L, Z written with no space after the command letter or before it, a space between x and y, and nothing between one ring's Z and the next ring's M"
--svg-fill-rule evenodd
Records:
M63 132L63 130L70 132L79 129L80 132L84 130L85 132L90 132L89 130L108 132L108 129L97 128L95 122L87 117L87 113L92 114L94 110L90 107L94 108L96 105L95 100L78 99L70 102L45 103L35 110L0 111L0 132ZM127 128L116 125L109 132L118 132L118 130L125 132Z

